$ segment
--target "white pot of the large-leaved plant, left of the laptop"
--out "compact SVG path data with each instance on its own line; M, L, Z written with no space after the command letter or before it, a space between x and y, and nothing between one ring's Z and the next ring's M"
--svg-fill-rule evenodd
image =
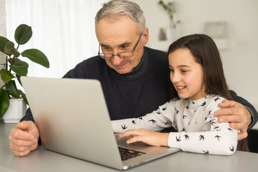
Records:
M26 103L22 98L10 99L10 105L8 110L3 115L2 119L4 123L17 123L25 115L27 109Z

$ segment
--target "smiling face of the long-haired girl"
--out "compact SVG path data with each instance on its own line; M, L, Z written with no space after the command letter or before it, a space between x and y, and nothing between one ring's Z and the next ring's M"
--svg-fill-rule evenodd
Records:
M187 48L169 54L170 79L180 98L198 100L205 96L201 64Z

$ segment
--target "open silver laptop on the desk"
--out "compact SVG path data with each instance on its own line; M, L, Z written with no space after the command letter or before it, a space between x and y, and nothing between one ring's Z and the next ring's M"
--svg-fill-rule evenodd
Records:
M98 80L21 77L21 81L47 150L118 170L180 150L117 140Z

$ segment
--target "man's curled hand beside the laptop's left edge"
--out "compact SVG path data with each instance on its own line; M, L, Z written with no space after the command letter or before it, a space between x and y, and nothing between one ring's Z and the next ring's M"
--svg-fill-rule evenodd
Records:
M10 149L16 156L26 156L38 147L38 128L32 121L22 121L11 131Z

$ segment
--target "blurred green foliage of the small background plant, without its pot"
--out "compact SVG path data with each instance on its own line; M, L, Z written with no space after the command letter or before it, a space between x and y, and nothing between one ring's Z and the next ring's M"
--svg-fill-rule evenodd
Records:
M174 14L176 12L174 2L169 1L168 3L165 3L163 0L159 0L158 5L160 5L165 10L165 12L169 15L170 28L176 28L176 24L181 23L181 21L177 20L176 22L174 22Z

